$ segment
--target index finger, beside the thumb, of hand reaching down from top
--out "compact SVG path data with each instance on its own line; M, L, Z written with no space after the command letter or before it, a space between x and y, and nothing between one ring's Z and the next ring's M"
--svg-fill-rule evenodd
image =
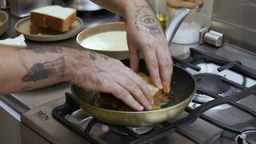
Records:
M152 79L154 86L157 86L159 89L162 89L162 82L160 79L159 68L158 68L158 59L153 50L146 50L144 52L144 57L146 61L146 66L150 72L150 78Z

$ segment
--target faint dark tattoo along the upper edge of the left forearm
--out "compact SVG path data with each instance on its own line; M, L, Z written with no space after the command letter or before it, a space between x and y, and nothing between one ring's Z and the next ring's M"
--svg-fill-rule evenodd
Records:
M26 50L31 50L35 54L45 54L46 52L49 52L49 53L62 53L62 48L58 47L58 46L54 46L54 47L44 47L44 46L31 47L31 46L28 46L25 49Z

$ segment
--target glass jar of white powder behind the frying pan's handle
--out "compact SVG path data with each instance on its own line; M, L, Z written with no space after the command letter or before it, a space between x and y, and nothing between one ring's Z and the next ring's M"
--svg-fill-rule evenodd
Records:
M176 0L182 1L182 0ZM176 3L175 3L176 4ZM193 44L199 41L199 31L202 28L202 5L193 7L190 6L170 6L167 2L166 10L166 25L168 26L171 18L175 12L180 8L189 8L191 10L190 14L186 16L183 20L181 26L179 26L174 39L172 42L177 44Z

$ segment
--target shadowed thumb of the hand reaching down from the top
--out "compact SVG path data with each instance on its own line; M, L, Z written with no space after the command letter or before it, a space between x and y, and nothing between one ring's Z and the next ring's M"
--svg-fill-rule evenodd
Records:
M139 67L139 51L130 49L130 68L131 70L134 70L135 72L138 71Z

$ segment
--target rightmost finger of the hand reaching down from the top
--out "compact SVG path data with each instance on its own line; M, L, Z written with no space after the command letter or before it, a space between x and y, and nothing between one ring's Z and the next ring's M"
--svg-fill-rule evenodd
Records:
M170 86L171 74L173 72L173 62L168 46L157 50L157 58L163 88L167 91L166 86Z

